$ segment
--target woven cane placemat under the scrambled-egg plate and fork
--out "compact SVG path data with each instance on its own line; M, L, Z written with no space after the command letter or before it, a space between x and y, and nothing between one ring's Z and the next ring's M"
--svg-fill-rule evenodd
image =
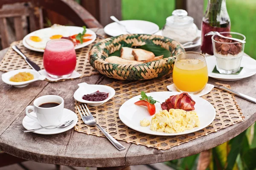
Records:
M166 78L137 82L114 82L108 86L115 89L116 95L104 105L89 107L89 109L96 119L96 122L105 128L105 130L115 139L128 143L141 144L147 147L154 147L159 150L166 150L193 139L197 139L198 137L205 136L209 133L217 132L219 129L241 122L244 119L234 95L221 91L218 88L213 88L209 94L202 96L202 98L210 102L216 110L214 121L208 127L195 133L179 136L148 135L127 127L119 119L118 111L125 101L140 95L141 91L145 91L146 93L168 91L166 86L170 84L172 84L172 79ZM79 102L75 103L76 105L80 104ZM77 109L76 114L79 117L79 121L75 126L76 131L104 137L103 133L97 129L97 127L90 127L84 124Z

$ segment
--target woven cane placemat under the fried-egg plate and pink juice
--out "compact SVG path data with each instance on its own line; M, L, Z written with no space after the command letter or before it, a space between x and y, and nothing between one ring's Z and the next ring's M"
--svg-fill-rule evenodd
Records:
M79 48L76 50L76 71L81 74L81 77L91 76L93 74L99 74L89 63L88 53L92 46L98 42L100 39L97 38L93 43L87 45L86 47ZM18 48L26 55L30 60L35 62L41 69L44 69L43 65L43 54L42 52L36 52L29 50L24 47L21 41L12 42L12 45L17 45ZM12 48L9 48L0 63L0 71L12 71L21 68L30 68L25 60L17 54ZM80 78L81 78L80 77ZM61 79L58 81L65 81L67 79ZM49 81L49 80L48 80Z

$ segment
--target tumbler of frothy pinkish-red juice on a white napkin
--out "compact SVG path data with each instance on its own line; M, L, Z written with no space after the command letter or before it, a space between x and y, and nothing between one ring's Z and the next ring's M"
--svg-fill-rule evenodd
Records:
M44 50L44 69L50 77L69 77L76 68L73 42L55 39L47 42Z

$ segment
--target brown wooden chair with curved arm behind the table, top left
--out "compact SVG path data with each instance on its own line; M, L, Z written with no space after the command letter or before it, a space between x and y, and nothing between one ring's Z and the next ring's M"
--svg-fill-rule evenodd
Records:
M8 19L13 18L15 40L22 40L28 33L44 27L42 9L49 9L66 17L76 26L88 28L102 25L74 0L0 0L0 35L2 48L9 47ZM28 23L26 22L28 18ZM29 25L29 26L28 26Z

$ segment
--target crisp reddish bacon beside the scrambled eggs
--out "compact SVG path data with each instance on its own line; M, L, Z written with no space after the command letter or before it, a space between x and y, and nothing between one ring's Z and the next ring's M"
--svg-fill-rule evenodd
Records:
M163 110L183 109L186 111L195 110L195 101L187 93L170 96L165 102L161 104Z

